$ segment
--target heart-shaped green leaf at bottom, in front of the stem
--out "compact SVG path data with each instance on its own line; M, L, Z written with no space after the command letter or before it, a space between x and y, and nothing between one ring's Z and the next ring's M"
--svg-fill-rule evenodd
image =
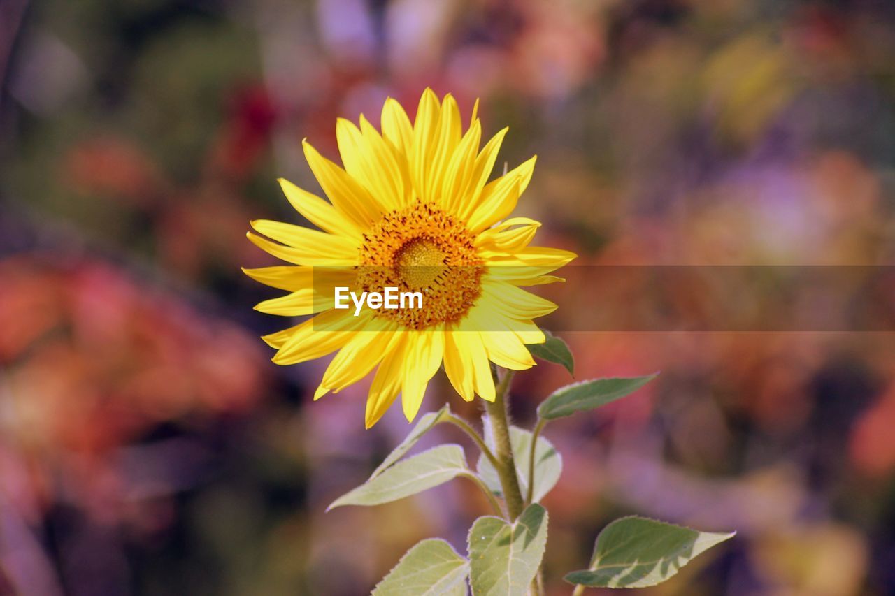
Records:
M529 505L513 524L491 515L469 531L473 596L525 596L547 545L547 509Z

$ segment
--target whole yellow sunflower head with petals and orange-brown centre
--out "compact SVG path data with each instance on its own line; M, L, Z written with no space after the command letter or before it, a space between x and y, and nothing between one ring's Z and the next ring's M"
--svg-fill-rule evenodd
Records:
M507 217L531 180L535 158L491 180L507 129L480 150L482 124L473 107L464 132L456 100L431 89L411 123L388 98L381 129L338 119L343 167L303 141L305 158L328 201L280 180L286 199L320 230L257 220L252 243L289 266L243 269L290 294L260 302L261 312L314 315L264 336L273 362L294 364L337 352L319 399L376 369L366 408L370 428L400 394L413 421L429 380L444 362L447 379L466 401L493 401L490 362L513 370L533 366L526 344L544 342L532 321L556 305L520 286L561 281L549 274L575 258L531 246L541 224ZM263 237L267 236L267 238ZM334 308L331 291L394 285L419 290L420 308ZM369 304L367 305L369 306Z

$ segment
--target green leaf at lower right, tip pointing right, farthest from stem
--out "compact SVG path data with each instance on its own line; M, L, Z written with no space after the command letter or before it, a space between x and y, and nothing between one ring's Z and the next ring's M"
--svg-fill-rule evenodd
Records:
M644 517L623 517L597 536L590 568L573 571L566 581L599 588L655 585L736 533L698 532Z

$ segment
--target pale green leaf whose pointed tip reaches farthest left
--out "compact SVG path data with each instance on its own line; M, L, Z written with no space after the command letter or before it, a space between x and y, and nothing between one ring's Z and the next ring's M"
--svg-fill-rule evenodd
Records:
M344 505L380 505L431 489L452 478L471 473L463 447L439 445L387 468L385 472L342 495L327 511Z

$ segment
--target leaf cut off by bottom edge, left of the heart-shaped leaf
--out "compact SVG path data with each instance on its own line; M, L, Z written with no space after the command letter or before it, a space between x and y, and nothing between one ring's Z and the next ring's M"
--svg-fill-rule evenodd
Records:
M376 584L371 596L466 596L469 562L439 538L418 542Z

